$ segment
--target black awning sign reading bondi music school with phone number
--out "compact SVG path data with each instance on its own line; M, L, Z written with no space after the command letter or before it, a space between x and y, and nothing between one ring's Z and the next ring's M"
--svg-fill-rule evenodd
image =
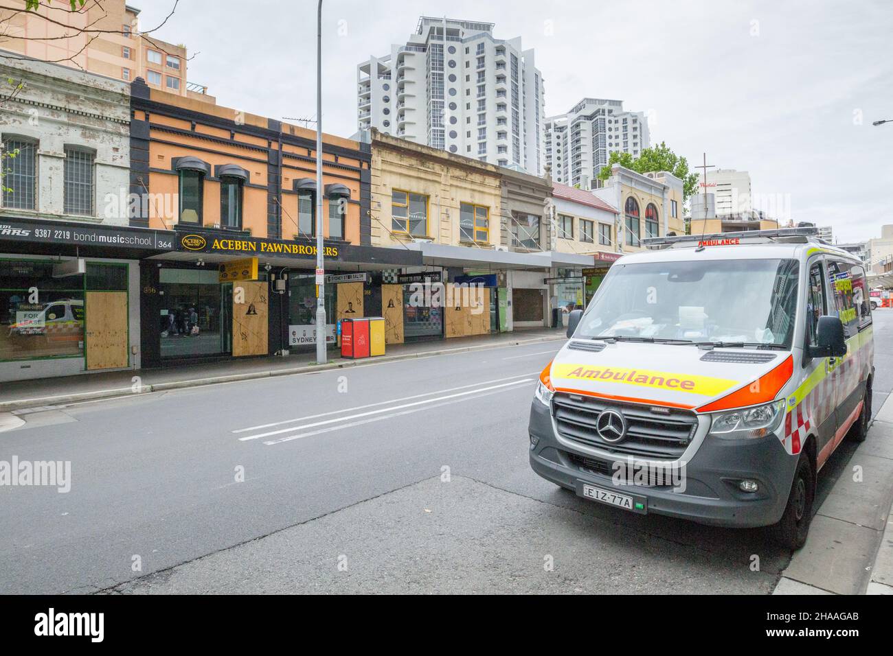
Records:
M171 251L174 244L171 233L163 230L3 218L0 219L0 241L6 239L32 244L145 248L154 251Z

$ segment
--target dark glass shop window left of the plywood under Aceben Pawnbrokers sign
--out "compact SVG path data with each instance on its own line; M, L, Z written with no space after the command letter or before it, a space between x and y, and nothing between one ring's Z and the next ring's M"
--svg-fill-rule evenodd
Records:
M216 270L162 269L163 358L232 353L232 283Z

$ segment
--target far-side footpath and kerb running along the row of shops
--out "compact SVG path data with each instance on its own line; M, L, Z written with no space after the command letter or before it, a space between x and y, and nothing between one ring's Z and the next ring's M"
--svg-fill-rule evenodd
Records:
M551 342L565 338L563 328L520 330L499 335L456 337L432 342L388 345L385 355L363 360L343 359L338 356L337 351L330 350L330 361L323 365L318 365L313 361L315 353L299 353L284 357L250 358L167 369L118 370L65 378L20 380L0 384L0 413L38 410L48 405L61 403L78 403L253 378L289 376L431 355L468 353L502 346ZM2 417L3 415L0 414L0 418ZM6 420L12 421L9 418ZM3 429L4 424L0 422L0 430Z

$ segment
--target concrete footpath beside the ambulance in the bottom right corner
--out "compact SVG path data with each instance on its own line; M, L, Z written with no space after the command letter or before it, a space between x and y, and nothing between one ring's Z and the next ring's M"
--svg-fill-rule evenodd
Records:
M773 594L893 594L891 502L893 395L840 472Z

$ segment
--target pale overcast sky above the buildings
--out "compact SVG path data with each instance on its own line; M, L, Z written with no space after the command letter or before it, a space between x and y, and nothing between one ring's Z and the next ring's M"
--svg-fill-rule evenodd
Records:
M142 29L173 0L132 0ZM496 23L534 48L547 115L584 96L649 112L652 144L747 170L760 202L830 224L839 241L893 223L890 0L325 0L326 132L356 131L356 64L403 43L420 15ZM316 2L180 0L156 33L195 54L218 104L280 119L316 107ZM772 209L772 207L765 207Z

